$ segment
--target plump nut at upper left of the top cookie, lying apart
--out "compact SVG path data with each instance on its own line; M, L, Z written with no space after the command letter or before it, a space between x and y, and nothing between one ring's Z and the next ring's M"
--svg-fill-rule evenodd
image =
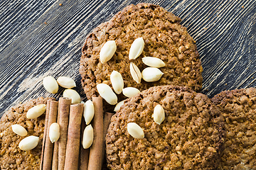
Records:
M105 63L109 61L113 55L114 52L117 50L117 45L114 40L107 41L102 49L100 50L100 62Z

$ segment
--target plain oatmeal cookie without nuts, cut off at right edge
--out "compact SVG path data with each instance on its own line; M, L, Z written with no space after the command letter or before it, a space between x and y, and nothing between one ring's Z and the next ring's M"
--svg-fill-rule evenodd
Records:
M222 91L211 100L225 119L219 169L256 169L256 89Z

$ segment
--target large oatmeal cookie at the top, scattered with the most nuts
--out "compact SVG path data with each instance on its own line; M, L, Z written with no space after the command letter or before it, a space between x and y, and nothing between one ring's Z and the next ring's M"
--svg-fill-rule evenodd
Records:
M199 59L195 41L180 24L181 19L160 6L153 4L130 5L119 11L110 21L97 26L87 36L82 47L80 74L82 86L87 98L98 96L96 85L108 84L110 74L115 70L122 74L124 88L135 87L140 91L151 86L178 85L189 86L200 91L203 68ZM129 50L137 38L143 38L144 50L135 60L129 60ZM100 62L100 50L108 40L114 40L117 50L108 62ZM139 67L140 72L146 64L142 57L156 57L164 61L165 67L159 68L162 75L159 81L138 84L130 73L131 62ZM119 101L124 100L122 94Z

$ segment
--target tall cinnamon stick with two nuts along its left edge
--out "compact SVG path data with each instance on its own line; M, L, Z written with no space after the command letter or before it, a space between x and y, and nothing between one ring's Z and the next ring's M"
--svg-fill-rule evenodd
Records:
M103 157L103 111L102 97L92 97L95 115L92 119L93 142L90 147L88 170L101 170Z

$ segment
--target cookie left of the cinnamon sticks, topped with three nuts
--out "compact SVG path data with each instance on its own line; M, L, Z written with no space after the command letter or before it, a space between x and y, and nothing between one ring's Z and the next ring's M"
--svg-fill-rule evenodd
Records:
M39 169L45 114L36 119L27 119L26 113L29 108L38 104L46 104L46 101L53 98L36 98L18 106L14 106L4 113L0 121L0 169ZM30 151L19 149L18 143L25 137L16 135L11 125L23 126L28 132L28 137L34 135L39 137L37 147Z

